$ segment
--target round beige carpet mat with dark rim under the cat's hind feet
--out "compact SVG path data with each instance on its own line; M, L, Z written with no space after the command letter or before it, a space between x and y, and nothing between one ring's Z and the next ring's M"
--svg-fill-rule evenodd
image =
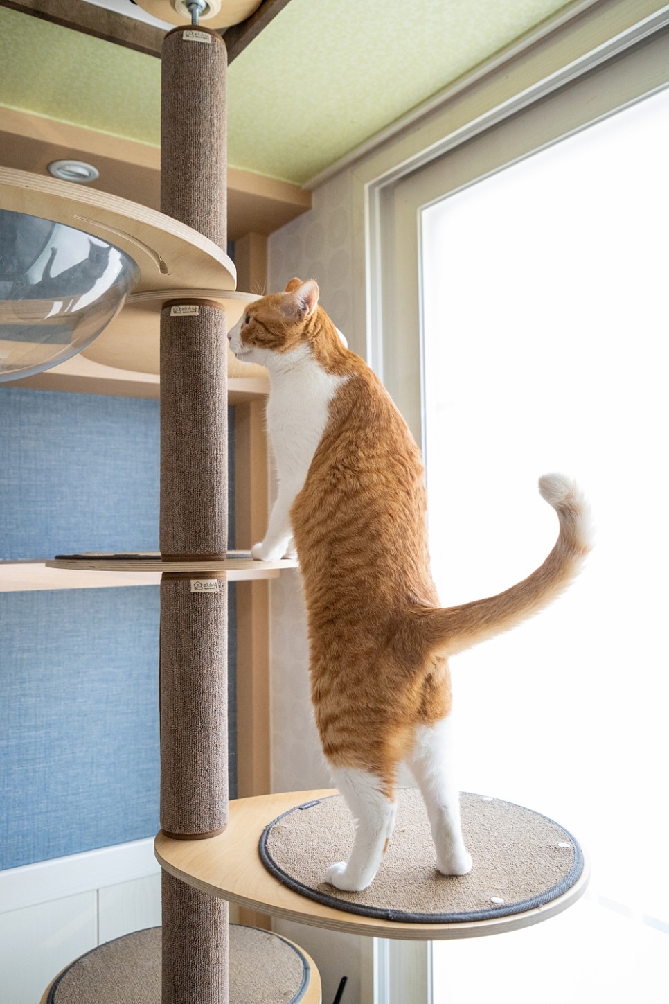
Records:
M346 860L353 821L341 795L306 802L266 827L265 866L303 896L348 913L386 921L455 924L493 920L544 906L580 877L581 847L539 812L485 795L460 795L464 842L473 858L467 875L442 875L434 865L427 812L417 789L398 792L397 821L371 886L345 893L323 882Z

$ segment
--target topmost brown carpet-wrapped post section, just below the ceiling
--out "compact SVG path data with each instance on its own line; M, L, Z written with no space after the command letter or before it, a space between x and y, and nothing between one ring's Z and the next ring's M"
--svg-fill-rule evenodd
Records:
M228 50L215 31L191 34L175 28L162 43L160 210L225 251Z

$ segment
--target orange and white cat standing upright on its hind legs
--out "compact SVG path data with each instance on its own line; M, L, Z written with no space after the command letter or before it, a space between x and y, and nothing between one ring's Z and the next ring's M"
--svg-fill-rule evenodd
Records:
M542 566L505 592L439 605L429 569L420 454L372 370L343 344L316 282L252 303L229 334L243 361L270 372L268 429L279 479L261 561L293 546L304 580L311 694L334 781L356 820L348 861L326 880L362 890L395 820L405 761L429 815L436 866L471 858L452 777L448 656L507 631L554 599L590 549L578 488L540 481L560 534Z

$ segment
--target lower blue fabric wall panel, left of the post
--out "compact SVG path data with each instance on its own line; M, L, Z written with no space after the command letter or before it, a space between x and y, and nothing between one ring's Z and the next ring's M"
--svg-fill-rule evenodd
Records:
M158 601L0 594L0 867L157 830Z

